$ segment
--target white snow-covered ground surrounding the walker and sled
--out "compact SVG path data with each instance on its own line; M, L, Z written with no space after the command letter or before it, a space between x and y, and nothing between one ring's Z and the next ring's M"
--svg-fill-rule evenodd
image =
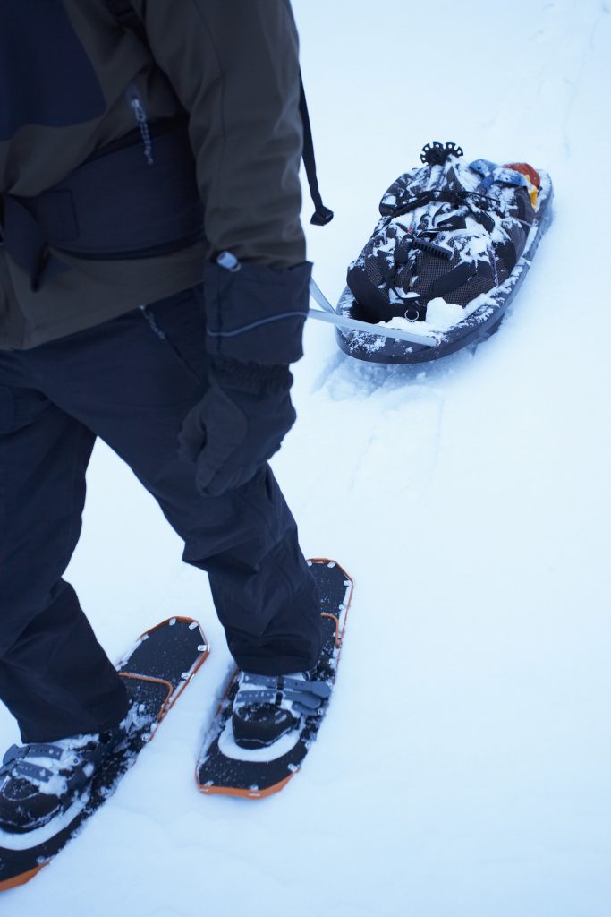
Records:
M306 553L356 580L300 775L202 797L231 660L205 577L106 448L70 578L111 657L169 614L213 653L115 797L3 917L609 917L608 0L294 0L334 299L387 185L433 139L529 160L555 219L474 355L359 364L307 328L274 460ZM306 204L309 214L310 204ZM17 740L0 713L0 746Z

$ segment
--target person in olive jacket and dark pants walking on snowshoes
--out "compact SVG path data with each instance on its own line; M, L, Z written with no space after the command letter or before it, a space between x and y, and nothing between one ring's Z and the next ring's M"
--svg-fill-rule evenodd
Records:
M24 743L0 827L16 832L86 792L133 721L62 578L96 436L208 573L243 672L307 683L322 645L267 464L295 420L311 271L289 0L133 0L140 35L112 6L0 0L0 698ZM245 747L298 721L238 693Z

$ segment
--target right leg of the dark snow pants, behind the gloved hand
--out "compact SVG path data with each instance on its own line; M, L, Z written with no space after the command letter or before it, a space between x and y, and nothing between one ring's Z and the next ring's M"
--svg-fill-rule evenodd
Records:
M52 379L53 401L155 496L184 539L184 559L209 573L238 665L266 674L311 668L322 641L318 596L271 470L203 497L193 466L177 455L182 420L207 384L201 297L195 288L37 348L38 372Z

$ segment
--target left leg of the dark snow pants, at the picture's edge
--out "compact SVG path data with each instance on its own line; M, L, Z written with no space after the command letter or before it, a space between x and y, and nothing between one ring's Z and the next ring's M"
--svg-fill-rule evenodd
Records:
M0 699L24 742L97 732L125 715L124 684L61 579L93 440L40 392L0 384Z

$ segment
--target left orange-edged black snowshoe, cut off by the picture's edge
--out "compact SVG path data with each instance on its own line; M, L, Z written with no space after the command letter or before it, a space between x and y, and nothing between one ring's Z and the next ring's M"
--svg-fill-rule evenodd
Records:
M0 891L23 885L47 866L113 794L208 653L202 628L191 618L169 618L138 638L117 671L138 704L141 727L100 768L84 802L27 834L0 831Z

